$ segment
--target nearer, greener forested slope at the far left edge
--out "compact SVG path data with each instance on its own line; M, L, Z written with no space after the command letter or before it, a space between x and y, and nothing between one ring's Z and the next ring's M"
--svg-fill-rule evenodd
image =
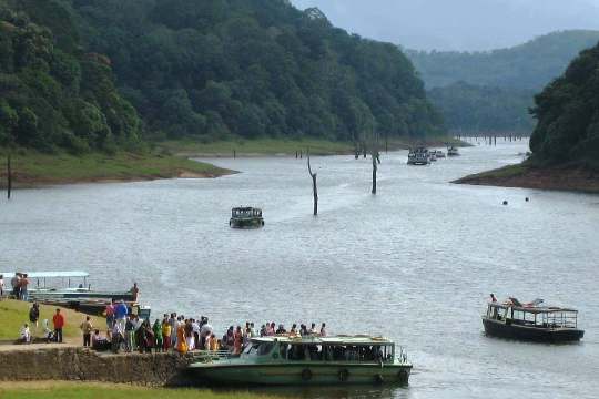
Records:
M0 0L0 146L139 149L141 120L116 91L110 61L79 50L64 10L29 2L60 30L58 37L32 22L26 3Z

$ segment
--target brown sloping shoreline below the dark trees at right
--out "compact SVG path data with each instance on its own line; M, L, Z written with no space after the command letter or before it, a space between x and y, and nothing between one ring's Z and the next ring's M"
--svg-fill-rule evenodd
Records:
M599 194L599 173L580 166L517 164L464 176L451 183Z

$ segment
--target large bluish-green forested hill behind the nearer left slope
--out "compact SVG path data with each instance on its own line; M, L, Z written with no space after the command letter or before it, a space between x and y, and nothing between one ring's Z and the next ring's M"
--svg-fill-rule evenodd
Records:
M52 0L156 139L438 134L410 61L285 0Z

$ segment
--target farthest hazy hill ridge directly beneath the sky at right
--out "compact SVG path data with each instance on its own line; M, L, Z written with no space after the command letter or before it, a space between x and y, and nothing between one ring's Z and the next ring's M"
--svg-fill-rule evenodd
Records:
M485 52L407 50L427 88L456 82L540 90L560 75L578 53L599 41L599 31L554 32L524 44Z

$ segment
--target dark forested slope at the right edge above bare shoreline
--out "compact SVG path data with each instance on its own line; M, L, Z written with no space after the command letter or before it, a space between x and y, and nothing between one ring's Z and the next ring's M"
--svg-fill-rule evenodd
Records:
M599 168L599 44L535 96L534 158Z

